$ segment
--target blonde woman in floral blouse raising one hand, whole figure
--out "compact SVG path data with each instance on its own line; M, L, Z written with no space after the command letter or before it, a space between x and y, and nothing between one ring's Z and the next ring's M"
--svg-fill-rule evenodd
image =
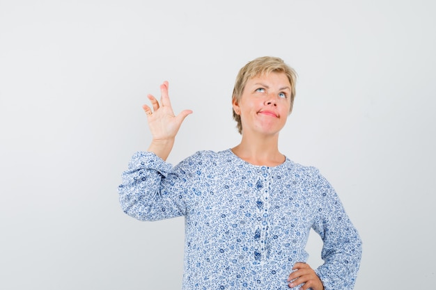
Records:
M168 82L161 103L144 105L153 140L123 173L120 204L139 220L185 216L183 289L352 289L361 240L327 180L279 152L279 132L293 108L295 72L262 57L240 70L233 90L239 145L201 151L172 167L165 160L182 121ZM304 251L313 228L325 264Z

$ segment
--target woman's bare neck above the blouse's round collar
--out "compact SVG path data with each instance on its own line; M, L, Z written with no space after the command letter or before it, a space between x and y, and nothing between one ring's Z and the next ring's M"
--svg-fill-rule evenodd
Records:
M285 161L285 156L279 152L279 134L258 137L242 134L241 143L233 147L232 152L256 166L278 166Z

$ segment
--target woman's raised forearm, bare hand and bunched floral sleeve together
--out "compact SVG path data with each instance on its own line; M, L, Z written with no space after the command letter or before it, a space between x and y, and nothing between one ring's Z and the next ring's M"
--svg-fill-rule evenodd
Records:
M174 186L177 172L171 172L172 166L164 161L171 152L182 121L192 111L185 110L175 116L167 81L162 83L160 91L162 104L159 105L153 95L148 95L153 111L143 105L153 136L148 152L134 154L128 170L123 172L123 183L118 186L123 211L139 220L159 220L185 213L185 204L178 198L180 188Z

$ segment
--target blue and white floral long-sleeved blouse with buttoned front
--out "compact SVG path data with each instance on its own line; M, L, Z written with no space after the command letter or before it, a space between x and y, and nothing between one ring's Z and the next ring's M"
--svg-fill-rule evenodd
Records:
M316 273L325 290L354 287L361 240L316 168L288 158L254 166L231 150L196 152L172 167L137 152L118 192L139 220L185 216L184 290L289 289L311 228L324 242Z

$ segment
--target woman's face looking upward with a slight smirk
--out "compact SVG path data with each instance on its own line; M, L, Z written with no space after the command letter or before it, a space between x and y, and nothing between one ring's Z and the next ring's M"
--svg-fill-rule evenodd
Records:
M249 79L233 109L240 115L242 134L278 134L290 111L290 83L286 74L271 72Z

